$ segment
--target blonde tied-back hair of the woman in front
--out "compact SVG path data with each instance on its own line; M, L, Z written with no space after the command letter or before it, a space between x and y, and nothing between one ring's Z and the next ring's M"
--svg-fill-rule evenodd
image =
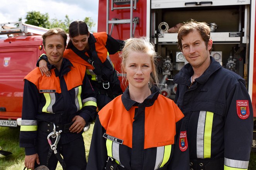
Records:
M152 42L149 41L149 38L146 37L140 37L140 38L129 38L125 40L124 48L122 49L122 53L119 54L119 57L121 58L121 71L124 73L124 67L127 60L127 57L132 52L141 52L146 53L151 57L151 64L152 64L152 72L150 74L149 79L149 88L152 87L152 85L156 84L158 86L158 74L156 70L156 57L157 53L155 52L155 47ZM124 75L124 74L123 74ZM125 77L122 77L122 83L126 85L127 79Z

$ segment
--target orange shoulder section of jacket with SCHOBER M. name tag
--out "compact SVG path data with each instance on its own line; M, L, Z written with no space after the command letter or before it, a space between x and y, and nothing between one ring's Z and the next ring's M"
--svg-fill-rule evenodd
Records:
M68 90L78 87L83 84L86 67L78 63L73 63L74 67L70 67L71 71L64 75L64 79ZM51 69L51 77L42 76L39 68L32 70L24 79L36 85L38 91L40 90L55 90L56 93L61 93L59 77L56 77L54 69Z

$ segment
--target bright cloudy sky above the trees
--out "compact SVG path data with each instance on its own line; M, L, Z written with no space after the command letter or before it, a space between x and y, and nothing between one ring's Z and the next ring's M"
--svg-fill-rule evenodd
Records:
M98 27L98 1L99 0L1 0L0 23L16 22L20 17L25 22L27 12L39 11L42 14L48 13L49 20L57 18L65 19L65 15L71 20L83 20L91 17L95 26Z

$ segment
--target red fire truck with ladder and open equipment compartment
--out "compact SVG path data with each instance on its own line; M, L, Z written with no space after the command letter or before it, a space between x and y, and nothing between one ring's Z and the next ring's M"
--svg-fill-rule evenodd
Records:
M223 67L246 80L256 128L255 8L255 0L100 0L98 32L107 32L123 40L149 37L161 56L161 94L173 99L176 85L172 80L186 60L177 47L177 33L169 33L168 29L190 18L209 23L213 40L212 56ZM111 59L120 71L117 55L112 55ZM255 139L256 130L254 149Z

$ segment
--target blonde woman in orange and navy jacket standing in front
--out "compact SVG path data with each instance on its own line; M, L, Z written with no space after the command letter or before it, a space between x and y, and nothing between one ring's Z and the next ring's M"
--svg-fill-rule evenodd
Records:
M175 123L184 115L159 95L154 45L130 38L120 57L129 87L98 113L86 169L169 170Z

